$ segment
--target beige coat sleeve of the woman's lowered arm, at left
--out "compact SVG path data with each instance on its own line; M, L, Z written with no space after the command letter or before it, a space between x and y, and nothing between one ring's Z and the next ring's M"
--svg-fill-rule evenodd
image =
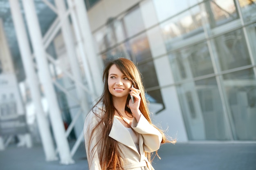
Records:
M97 110L99 111L99 110ZM93 128L100 121L100 117L95 115L92 111L87 115L84 123L84 139L85 139L85 150L88 160L89 170L101 170L99 163L99 141L101 137L99 136L100 131L96 129L92 132ZM90 136L92 135L91 139Z

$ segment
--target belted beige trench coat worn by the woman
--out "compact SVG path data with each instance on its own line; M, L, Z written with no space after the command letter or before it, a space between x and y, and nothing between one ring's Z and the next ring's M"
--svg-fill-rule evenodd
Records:
M91 146L88 146L88 137L92 132L92 128L97 124L97 122L99 122L100 117L103 114L102 110L102 107L98 105L96 108L94 108L94 112L96 112L99 117L94 115L94 113L91 111L85 119L85 149L90 170L101 170L98 152L95 150L93 152L92 149L100 139L100 137L97 135L100 134L101 130L95 132L95 135L91 141ZM109 137L112 137L119 142L119 148L124 154L124 169L154 170L148 159L144 156L144 151L154 152L158 150L162 141L162 134L159 132L159 130L150 125L143 115L141 115L139 122L137 122L136 119L133 119L132 128L139 133L139 151L132 140L130 132L116 117L114 117L113 125L109 134ZM96 150L99 151L100 148L101 146L97 146Z

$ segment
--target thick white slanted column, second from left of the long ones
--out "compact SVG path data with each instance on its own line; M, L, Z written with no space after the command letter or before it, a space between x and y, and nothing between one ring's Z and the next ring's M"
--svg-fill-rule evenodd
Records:
M60 156L61 164L74 163L70 154L70 147L65 137L65 128L61 118L61 111L58 107L56 93L52 84L46 52L43 46L42 35L36 14L36 9L33 0L22 0L27 20L27 26L38 64L39 77L43 84L44 93L49 104L49 115L52 123L52 129Z

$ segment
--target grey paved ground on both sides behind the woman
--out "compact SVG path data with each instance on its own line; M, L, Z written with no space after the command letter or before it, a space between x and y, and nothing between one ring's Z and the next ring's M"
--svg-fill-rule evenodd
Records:
M256 170L256 143L178 143L164 144L155 170ZM75 164L46 162L43 148L17 148L0 151L0 170L88 170L83 144L74 155Z

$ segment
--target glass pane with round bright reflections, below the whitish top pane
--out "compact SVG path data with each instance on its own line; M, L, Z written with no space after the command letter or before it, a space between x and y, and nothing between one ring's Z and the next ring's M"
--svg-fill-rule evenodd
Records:
M167 51L173 43L203 33L202 17L198 6L189 9L161 25Z

